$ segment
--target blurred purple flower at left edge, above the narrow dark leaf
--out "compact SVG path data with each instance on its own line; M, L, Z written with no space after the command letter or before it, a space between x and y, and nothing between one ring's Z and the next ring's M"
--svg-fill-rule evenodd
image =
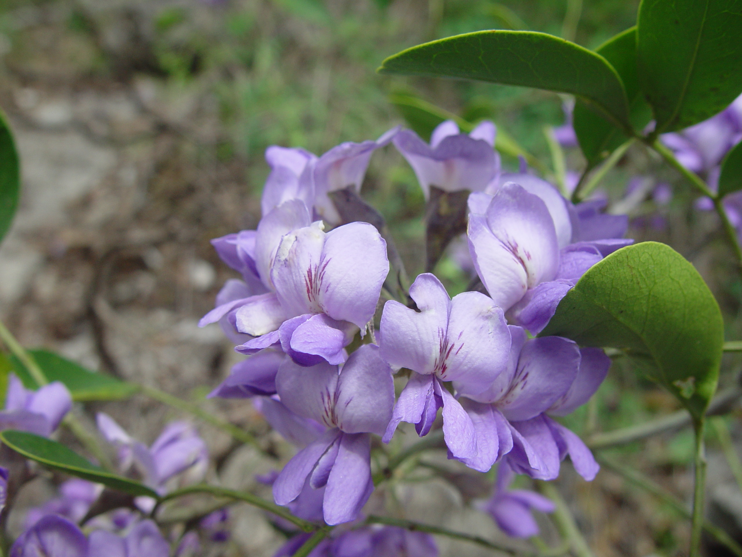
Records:
M5 410L0 411L0 429L20 429L47 436L59 426L70 408L72 396L61 382L54 381L32 391L11 374Z

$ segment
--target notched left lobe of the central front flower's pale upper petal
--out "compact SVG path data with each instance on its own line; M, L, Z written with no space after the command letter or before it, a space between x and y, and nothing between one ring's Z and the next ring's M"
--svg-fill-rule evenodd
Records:
M419 312L394 300L384 304L381 357L393 368L430 374L436 369L448 326L450 299L441 281L430 273L415 279L410 297Z

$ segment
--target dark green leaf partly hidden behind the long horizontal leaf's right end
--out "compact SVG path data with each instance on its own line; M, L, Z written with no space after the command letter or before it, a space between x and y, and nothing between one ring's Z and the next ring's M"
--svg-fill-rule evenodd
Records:
M651 107L639 89L637 78L637 28L631 27L608 39L596 52L608 60L621 77L628 97L631 126L637 132L642 131L651 120ZM588 167L597 166L628 139L623 130L580 101L574 106L574 131Z

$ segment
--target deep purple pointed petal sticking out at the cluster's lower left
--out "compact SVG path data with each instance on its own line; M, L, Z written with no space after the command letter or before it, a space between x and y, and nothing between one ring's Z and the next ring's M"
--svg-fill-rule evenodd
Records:
M229 377L211 391L207 398L251 398L276 392L278 366L286 356L266 350L232 366Z

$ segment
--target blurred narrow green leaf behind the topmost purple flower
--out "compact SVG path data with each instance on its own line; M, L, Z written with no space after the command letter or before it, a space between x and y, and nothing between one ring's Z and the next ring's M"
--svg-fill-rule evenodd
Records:
M430 141L430 134L439 123L444 120L453 120L462 131L470 132L474 129L474 124L462 117L456 116L444 108L440 108L413 95L395 93L390 95L389 101L395 105L401 113L407 126L426 141ZM495 136L495 149L502 154L510 157L524 157L525 160L534 168L543 169L541 162L523 149L519 143L508 134L502 126L497 126Z

